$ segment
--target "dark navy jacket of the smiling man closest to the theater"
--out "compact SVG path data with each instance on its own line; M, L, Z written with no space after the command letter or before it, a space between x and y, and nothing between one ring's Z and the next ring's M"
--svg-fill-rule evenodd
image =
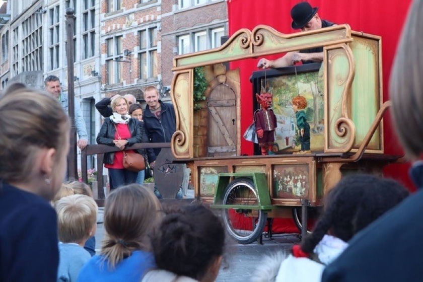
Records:
M163 103L160 100L159 103L162 105L160 120L150 111L150 107L147 105L143 116L144 126L151 143L168 143L176 131L175 110L172 104ZM153 149L153 151L153 155L149 154L149 162L156 160L161 149L157 148Z

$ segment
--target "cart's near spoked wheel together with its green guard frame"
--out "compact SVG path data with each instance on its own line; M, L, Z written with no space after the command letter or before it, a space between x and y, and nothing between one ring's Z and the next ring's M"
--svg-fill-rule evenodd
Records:
M213 208L222 209L228 234L240 244L262 235L272 209L264 173L220 173Z

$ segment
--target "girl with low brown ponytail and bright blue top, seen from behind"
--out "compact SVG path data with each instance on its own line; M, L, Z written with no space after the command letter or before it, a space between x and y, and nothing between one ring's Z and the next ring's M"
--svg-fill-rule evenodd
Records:
M78 281L136 281L155 267L149 234L161 219L154 193L137 184L110 193L104 206L106 239L100 255L82 269Z

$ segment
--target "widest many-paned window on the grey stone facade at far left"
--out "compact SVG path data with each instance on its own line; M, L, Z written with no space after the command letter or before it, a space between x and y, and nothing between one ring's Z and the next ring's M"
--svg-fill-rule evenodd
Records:
M42 70L42 15L33 14L22 22L22 72Z

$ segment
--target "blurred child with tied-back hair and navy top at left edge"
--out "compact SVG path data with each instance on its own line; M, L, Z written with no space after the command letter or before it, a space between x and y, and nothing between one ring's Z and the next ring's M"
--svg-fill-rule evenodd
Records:
M69 120L51 96L18 87L0 98L0 281L55 281L59 190Z

